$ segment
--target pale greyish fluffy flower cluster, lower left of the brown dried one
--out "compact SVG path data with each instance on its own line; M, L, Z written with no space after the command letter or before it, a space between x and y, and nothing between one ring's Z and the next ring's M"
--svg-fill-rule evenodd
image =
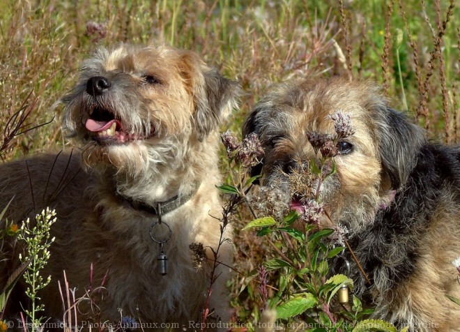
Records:
M273 216L276 220L283 220L289 213L291 197L279 186L261 187L258 192L248 195L247 199L257 216Z

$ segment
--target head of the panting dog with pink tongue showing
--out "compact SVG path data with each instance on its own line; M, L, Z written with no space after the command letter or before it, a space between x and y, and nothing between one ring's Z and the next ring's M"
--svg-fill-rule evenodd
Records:
M85 144L90 167L143 172L181 160L208 141L236 105L239 87L197 54L171 47L101 48L64 96L63 128Z

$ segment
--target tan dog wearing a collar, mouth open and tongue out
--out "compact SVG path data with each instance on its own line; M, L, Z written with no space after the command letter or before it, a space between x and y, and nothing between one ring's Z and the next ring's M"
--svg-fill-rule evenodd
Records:
M79 82L58 103L81 153L0 169L2 206L14 197L8 220L56 210L43 272L52 276L41 294L45 316L63 317L57 280L65 270L77 298L104 285L95 303L102 322L121 314L146 324L201 319L222 225L216 135L239 94L236 82L186 50L125 44L84 62ZM224 241L218 261L230 266L232 252ZM11 262L1 264L11 271ZM217 265L215 276L222 274L206 308L229 319L229 268ZM5 279L2 273L1 286ZM88 301L79 311L91 315Z

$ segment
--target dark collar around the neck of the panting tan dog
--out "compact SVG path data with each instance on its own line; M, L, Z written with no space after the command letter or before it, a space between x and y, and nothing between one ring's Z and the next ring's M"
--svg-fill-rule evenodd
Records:
M155 202L154 205L146 204L146 202L142 201L137 201L120 193L117 193L116 195L128 202L132 209L145 211L155 216L164 216L165 214L174 211L183 206L183 204L187 203L197 193L199 185L200 183L194 183L192 190L190 190L190 193L187 195L176 195L167 201ZM159 209L161 211L159 211Z

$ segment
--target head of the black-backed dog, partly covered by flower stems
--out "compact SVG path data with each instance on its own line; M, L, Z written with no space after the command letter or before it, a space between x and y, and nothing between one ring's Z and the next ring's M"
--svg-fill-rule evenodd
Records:
M342 138L334 121L338 112L346 119L349 116L352 129ZM371 220L378 206L404 186L425 142L422 129L392 110L378 87L339 78L273 86L247 117L243 135L249 133L259 135L265 151L253 175L263 174L264 186L281 184L285 190L291 189L293 170L321 159L319 149L312 146L312 135L331 137L337 169L319 193L332 220L347 222L354 229ZM310 185L315 187L318 181ZM312 196L316 193L315 187ZM312 197L293 197L293 206L305 198Z

